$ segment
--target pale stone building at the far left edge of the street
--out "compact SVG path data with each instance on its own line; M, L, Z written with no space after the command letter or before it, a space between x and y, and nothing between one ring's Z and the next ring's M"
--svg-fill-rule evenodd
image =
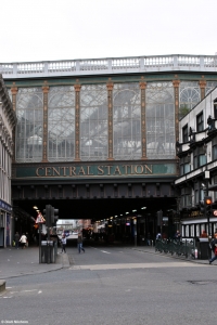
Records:
M11 245L13 234L11 170L15 123L16 116L0 75L0 247Z

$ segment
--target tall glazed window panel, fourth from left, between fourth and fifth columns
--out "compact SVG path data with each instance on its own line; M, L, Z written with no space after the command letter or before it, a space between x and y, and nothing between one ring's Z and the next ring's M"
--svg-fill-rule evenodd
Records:
M141 100L138 83L115 83L113 90L113 155L141 158Z

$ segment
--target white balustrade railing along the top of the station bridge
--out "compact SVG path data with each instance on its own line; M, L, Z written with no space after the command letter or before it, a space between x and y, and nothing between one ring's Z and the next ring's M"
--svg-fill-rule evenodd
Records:
M217 72L217 55L175 54L0 63L0 74L4 79L169 70Z

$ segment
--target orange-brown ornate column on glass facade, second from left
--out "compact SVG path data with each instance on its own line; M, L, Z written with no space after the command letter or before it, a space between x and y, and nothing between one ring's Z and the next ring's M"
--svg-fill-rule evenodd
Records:
M44 81L42 86L43 91L43 152L42 162L48 162L48 92L49 86Z

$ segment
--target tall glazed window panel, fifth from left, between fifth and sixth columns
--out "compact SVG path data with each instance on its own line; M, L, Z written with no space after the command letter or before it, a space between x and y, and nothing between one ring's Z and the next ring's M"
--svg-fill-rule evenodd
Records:
M146 156L171 159L175 146L175 104L171 82L149 82L146 87Z

